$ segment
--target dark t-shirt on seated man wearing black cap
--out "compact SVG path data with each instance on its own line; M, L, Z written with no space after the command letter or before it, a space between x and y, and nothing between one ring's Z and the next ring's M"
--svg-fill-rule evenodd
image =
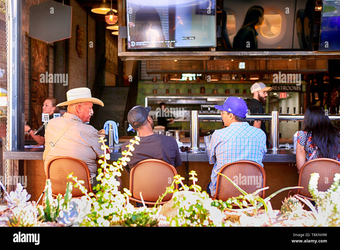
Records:
M131 168L133 168L138 162L146 159L158 159L171 164L174 167L182 165L180 150L178 149L178 144L172 136L153 134L149 136L139 136L140 145L134 145L135 150L132 151L132 156L130 157L130 162L128 162L129 168L125 169L130 173ZM122 145L122 151L128 150L125 147L130 144L126 141Z

